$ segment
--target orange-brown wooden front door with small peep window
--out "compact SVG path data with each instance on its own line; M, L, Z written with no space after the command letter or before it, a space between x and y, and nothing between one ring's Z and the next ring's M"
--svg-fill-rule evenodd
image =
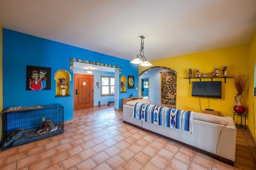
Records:
M74 110L93 107L94 76L74 74Z

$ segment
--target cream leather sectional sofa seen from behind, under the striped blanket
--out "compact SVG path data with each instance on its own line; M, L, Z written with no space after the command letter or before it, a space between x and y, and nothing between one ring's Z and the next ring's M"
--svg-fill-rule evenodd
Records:
M136 100L123 105L123 122L195 147L222 162L233 165L236 155L237 129L231 117L220 117L194 112L193 133L163 127L134 118L136 102L150 104L149 100Z

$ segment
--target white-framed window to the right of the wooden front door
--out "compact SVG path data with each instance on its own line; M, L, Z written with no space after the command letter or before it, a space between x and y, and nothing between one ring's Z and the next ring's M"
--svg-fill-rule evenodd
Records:
M115 94L115 78L109 76L101 76L101 93L100 95Z

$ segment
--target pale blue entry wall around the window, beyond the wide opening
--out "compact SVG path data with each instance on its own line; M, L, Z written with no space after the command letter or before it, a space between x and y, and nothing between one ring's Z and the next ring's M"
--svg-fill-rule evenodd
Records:
M98 106L98 101L100 101L101 105L108 104L108 102L114 102L115 101L115 96L114 95L100 96L100 76L113 76L113 77L115 77L114 72L93 71L92 74L88 74L86 72L86 70L84 70L84 69L74 68L74 74L94 75L94 106ZM97 82L99 82L99 88L96 86Z

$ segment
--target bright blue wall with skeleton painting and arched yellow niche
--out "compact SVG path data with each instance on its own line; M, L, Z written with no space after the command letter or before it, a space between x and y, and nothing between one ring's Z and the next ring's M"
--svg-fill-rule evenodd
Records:
M56 70L70 70L70 58L121 66L121 75L135 76L135 88L127 88L126 93L119 93L119 108L121 108L122 98L129 98L131 93L134 96L138 95L138 90L136 90L138 87L138 65L131 64L128 60L3 29L4 108L59 103L65 108L65 121L73 119L73 72L71 72L70 97L55 98L55 82L53 80ZM51 90L27 91L26 65L51 67Z

